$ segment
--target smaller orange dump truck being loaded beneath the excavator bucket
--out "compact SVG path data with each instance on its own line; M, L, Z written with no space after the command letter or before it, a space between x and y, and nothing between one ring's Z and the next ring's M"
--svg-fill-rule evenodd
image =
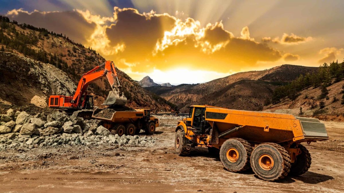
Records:
M150 109L131 109L126 106L111 106L106 109L96 109L92 118L101 120L98 125L103 125L112 134L135 135L143 129L146 134L155 133L159 127L158 118L151 116Z

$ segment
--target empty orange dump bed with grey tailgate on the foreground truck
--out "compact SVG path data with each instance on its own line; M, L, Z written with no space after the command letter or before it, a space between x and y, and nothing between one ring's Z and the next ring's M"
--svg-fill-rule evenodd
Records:
M226 137L241 137L259 143L320 141L329 138L325 125L318 119L291 114L206 107L205 119L211 125L215 124L219 134L241 126L237 132Z

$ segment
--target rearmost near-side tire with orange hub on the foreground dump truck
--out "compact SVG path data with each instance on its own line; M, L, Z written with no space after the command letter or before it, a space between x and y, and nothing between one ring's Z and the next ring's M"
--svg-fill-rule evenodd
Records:
M262 180L280 180L290 171L290 156L288 151L278 144L262 143L252 151L251 167Z

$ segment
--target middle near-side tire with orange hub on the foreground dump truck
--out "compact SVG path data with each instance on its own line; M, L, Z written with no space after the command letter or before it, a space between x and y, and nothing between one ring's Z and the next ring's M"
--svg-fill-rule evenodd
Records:
M241 172L250 169L252 146L244 139L227 139L220 148L220 160L226 170Z

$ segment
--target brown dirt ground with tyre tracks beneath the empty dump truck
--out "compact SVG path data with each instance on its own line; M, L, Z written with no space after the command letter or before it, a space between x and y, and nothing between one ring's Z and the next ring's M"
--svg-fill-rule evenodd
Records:
M330 139L305 145L312 166L300 177L266 182L226 171L196 149L174 154L176 119L160 119L154 147L57 146L0 152L0 192L344 192L344 123L324 122ZM141 133L141 135L144 135Z

